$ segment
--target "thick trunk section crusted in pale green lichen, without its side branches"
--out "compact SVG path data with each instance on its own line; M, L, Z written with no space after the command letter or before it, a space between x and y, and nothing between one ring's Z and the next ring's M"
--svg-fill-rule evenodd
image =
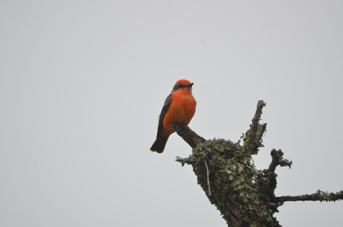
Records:
M273 225L277 223L272 217L273 212L263 202L268 201L265 194L258 190L266 188L269 181L262 170L256 170L251 164L250 155L240 156L243 147L239 142L208 140L199 144L188 158L177 160L182 165L193 166L198 183L222 213L228 226L277 226ZM211 196L203 160L208 163Z

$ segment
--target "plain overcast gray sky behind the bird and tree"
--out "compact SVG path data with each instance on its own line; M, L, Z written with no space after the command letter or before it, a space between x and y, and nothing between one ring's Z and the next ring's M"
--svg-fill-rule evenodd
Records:
M226 223L176 156L149 151L179 79L190 128L237 141L263 99L257 168L282 149L276 195L342 181L342 1L0 2L0 226ZM343 202L286 202L287 226L338 226Z

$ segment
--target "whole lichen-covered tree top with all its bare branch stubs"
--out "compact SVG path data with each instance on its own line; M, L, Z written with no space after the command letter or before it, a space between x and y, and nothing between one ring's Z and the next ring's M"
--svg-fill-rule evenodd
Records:
M257 105L250 129L243 134L244 144L224 139L205 140L188 126L173 123L174 130L192 148L188 158L177 157L182 166L192 165L198 184L210 202L215 204L228 226L280 227L273 216L286 201L336 201L342 200L343 191L327 193L317 191L312 195L275 197L277 166L291 168L292 161L283 158L281 150L271 151L272 162L268 169L257 170L251 156L263 147L262 136L267 124L259 124L263 100Z

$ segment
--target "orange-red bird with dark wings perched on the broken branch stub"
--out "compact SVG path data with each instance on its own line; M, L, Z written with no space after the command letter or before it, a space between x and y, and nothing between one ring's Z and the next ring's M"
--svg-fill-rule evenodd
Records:
M188 80L179 80L166 98L158 119L157 136L150 151L162 153L171 133L174 132L172 123L189 124L197 105L192 95L192 85Z

